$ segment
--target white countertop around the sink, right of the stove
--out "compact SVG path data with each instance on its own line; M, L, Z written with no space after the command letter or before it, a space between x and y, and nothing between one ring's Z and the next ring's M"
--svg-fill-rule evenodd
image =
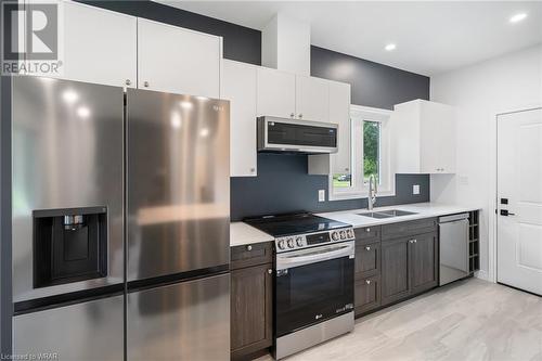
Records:
M371 218L359 215L367 212L369 211L367 209L350 209L350 210L317 214L317 216L334 219L358 228L358 227L389 224L389 223L397 223L397 222L422 219L422 218L461 214L464 211L478 210L481 209L481 207L459 206L459 205L448 205L448 204L437 204L437 203L415 203L415 204L397 205L389 207L375 207L373 211L382 211L388 209L406 210L415 212L415 215L390 217L390 218Z

